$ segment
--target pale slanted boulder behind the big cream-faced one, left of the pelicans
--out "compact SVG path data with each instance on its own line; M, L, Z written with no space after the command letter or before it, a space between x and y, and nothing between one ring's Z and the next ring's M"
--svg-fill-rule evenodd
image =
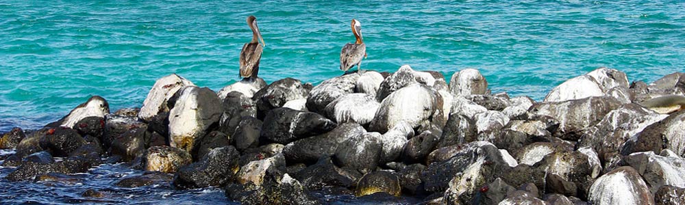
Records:
M150 120L158 113L168 112L170 108L167 101L181 88L195 85L192 82L178 76L177 74L170 74L162 77L152 85L152 89L147 94L147 98L142 102L138 118L142 120Z

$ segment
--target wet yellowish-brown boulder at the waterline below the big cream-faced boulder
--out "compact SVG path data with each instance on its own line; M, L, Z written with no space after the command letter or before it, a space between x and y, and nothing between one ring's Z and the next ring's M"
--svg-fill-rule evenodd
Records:
M143 154L145 171L174 173L180 167L192 163L192 156L185 150L169 146L154 146Z

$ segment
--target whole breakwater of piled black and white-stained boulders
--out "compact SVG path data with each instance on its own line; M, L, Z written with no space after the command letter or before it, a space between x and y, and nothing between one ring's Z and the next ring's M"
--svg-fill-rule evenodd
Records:
M242 204L682 204L684 93L683 73L629 83L609 68L541 102L493 94L474 69L449 84L402 66L219 94L172 74L140 109L109 113L95 96L38 131L1 135L0 148L16 149L9 180L124 161L146 174L117 186L221 187Z

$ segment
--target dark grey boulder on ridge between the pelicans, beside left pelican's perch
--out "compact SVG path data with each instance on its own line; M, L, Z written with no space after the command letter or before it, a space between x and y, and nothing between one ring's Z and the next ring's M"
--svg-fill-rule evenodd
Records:
M252 99L255 100L258 111L266 113L271 109L283 107L290 100L307 98L310 90L312 90L312 85L302 84L297 79L286 78L267 85Z

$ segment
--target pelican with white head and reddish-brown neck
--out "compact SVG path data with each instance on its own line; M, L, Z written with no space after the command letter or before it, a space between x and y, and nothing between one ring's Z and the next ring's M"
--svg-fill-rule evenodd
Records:
M366 57L366 44L362 40L362 23L353 18L351 27L357 40L353 44L345 44L343 51L340 51L340 70L345 71L345 73L355 65L357 65L357 70L361 72L362 58Z

